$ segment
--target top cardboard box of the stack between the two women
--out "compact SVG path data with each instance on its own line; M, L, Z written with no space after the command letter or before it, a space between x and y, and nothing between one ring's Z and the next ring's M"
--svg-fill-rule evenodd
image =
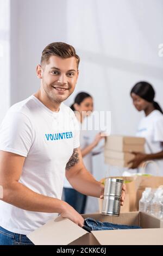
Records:
M112 135L106 138L105 150L144 152L145 138Z

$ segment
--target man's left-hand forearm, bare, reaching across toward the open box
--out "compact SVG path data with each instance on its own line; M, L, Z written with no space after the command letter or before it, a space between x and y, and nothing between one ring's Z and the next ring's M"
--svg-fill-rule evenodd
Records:
M35 193L20 182L13 182L10 186L3 185L2 200L18 208L37 212L61 213L66 204L59 199Z

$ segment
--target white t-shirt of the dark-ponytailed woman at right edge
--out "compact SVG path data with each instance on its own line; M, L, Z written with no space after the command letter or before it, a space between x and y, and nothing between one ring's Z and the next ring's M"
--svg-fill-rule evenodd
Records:
M137 137L146 138L145 152L147 154L159 153L163 150L163 115L154 110L147 117L142 118L136 132ZM163 159L154 160L159 167L158 175L163 175ZM154 164L149 163L146 173L157 175Z

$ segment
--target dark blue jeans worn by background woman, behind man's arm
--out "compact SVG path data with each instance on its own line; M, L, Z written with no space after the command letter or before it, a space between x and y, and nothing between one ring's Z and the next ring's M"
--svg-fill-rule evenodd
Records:
M70 204L79 214L84 214L86 196L73 188L64 187L65 202Z

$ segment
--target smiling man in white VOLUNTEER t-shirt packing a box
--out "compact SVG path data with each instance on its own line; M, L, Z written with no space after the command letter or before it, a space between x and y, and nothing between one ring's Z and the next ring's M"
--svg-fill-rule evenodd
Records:
M76 86L78 65L72 46L48 45L36 68L39 91L12 106L1 124L0 245L29 245L26 235L58 214L83 226L83 217L61 200L65 169L76 190L103 197L104 187L84 167L76 117L62 103Z

